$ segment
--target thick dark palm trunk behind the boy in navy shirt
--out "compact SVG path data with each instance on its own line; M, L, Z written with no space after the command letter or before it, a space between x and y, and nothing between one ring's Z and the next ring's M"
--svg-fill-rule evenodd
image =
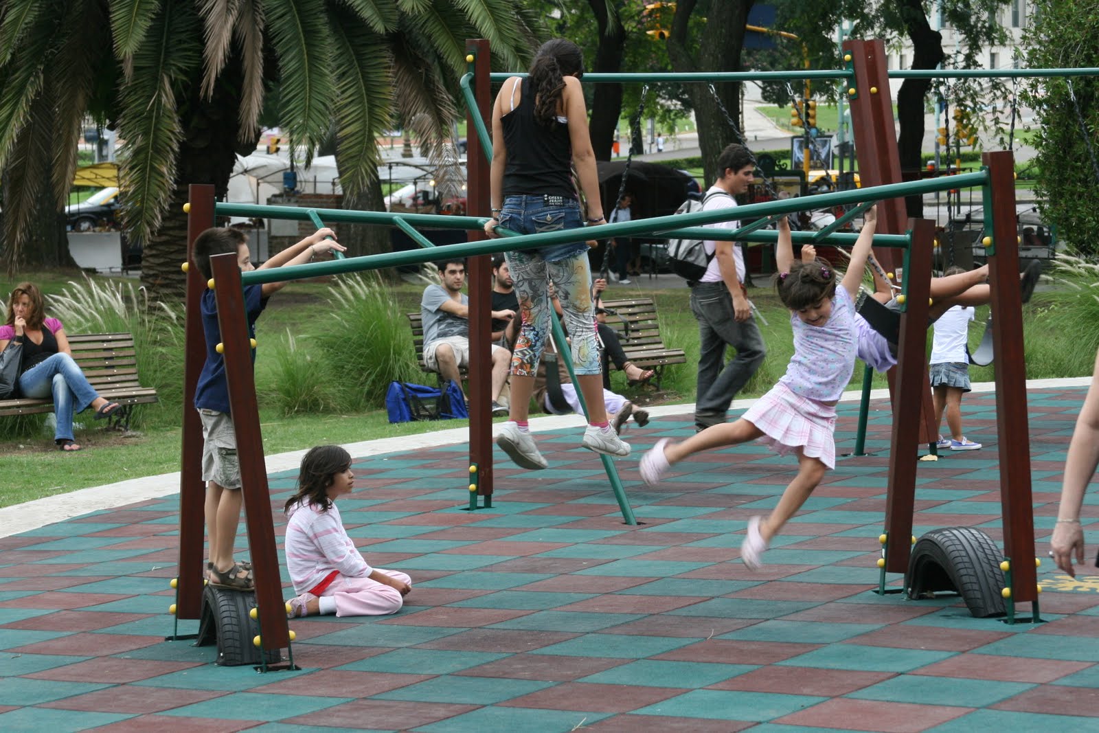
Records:
M184 203L187 202L188 186L212 184L214 197L224 200L236 154L252 153L259 141L258 132L251 141L237 141L241 77L241 63L234 55L225 65L210 99L199 95L199 79L196 79L188 97L180 103L184 141L179 147L171 201L159 229L144 243L142 253L141 279L151 300L173 303L184 299L187 280L180 264L187 259Z

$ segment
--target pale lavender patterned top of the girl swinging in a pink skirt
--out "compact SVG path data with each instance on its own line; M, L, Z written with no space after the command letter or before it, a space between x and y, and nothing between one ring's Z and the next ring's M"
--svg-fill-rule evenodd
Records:
M793 356L779 384L791 392L819 402L834 402L851 381L858 348L855 303L851 293L837 285L832 299L832 314L824 325L809 325L790 313L793 329Z

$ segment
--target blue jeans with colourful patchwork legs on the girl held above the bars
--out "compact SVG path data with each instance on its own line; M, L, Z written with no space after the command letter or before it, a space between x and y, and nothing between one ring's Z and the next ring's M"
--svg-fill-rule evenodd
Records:
M560 197L557 197L560 198ZM546 197L509 196L503 200L500 225L523 234L580 227L580 207L571 199L547 206ZM576 374L599 374L599 342L591 303L591 266L584 235L579 242L540 249L508 252L504 257L515 280L523 325L511 357L511 374L534 377L550 338L550 282L564 313L565 329L573 340Z

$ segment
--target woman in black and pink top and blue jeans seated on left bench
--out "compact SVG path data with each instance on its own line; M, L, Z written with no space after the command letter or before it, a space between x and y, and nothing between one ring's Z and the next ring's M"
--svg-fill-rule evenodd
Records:
M73 440L73 415L91 407L96 420L109 418L119 409L118 402L100 397L69 349L65 327L57 319L46 318L42 291L33 282L22 282L11 291L8 319L0 325L0 351L10 341L23 344L19 393L22 397L45 398L53 395L57 427L54 443L60 451L79 451Z

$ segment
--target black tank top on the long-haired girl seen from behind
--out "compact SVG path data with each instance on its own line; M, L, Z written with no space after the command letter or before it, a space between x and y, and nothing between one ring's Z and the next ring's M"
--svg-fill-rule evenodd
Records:
M510 86L510 85L509 85ZM573 187L573 143L568 123L557 118L550 125L534 119L534 95L530 79L522 82L519 107L500 118L508 164L503 169L503 195L540 196L544 193L576 198ZM510 101L504 109L510 109Z

